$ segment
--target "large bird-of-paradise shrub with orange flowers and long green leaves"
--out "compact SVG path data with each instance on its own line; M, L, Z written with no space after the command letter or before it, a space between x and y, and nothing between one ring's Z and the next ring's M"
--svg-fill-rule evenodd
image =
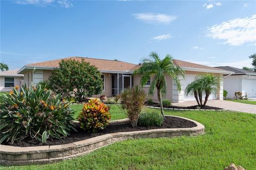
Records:
M15 86L9 94L1 96L0 137L2 142L18 142L25 139L46 142L68 136L75 126L71 123L74 112L68 103L50 90L26 85Z

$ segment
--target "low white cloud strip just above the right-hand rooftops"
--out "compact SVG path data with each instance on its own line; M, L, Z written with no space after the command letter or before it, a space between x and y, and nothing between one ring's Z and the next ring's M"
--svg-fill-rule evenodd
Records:
M193 60L187 60L187 61L197 63L197 64L202 64L205 66L210 66L210 67L218 67L218 66L231 66L236 68L252 67L252 64L251 64L252 59L235 61L235 62L210 62L210 61L193 61Z

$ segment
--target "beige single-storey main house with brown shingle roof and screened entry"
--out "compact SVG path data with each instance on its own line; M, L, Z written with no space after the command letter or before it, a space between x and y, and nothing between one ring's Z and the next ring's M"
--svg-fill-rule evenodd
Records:
M133 85L140 84L140 76L133 76L135 69L140 67L139 64L127 63L123 61L116 60L103 60L103 59L93 59L93 58L82 58L82 57L69 57L66 59L73 59L81 61L84 59L86 62L90 62L91 65L96 66L102 73L102 79L104 81L103 94L107 96L118 95L124 88L131 87ZM65 59L65 60L66 60ZM47 80L51 76L51 72L54 68L59 66L59 60L45 61L27 64L23 66L18 74L24 74L24 82L28 85L33 82L35 85L43 80ZM216 76L222 78L223 74L230 74L230 71L222 70L219 68L213 68L208 66L203 66L200 64L195 64L191 62L173 60L174 64L180 66L186 72L186 79L181 79L181 92L177 90L177 86L172 81L170 76L166 76L167 80L167 95L166 99L172 102L183 102L186 100L194 100L193 96L185 96L184 90L186 86L194 80L194 78L199 74L204 74L209 72ZM150 85L150 80L148 84L143 87L143 89L148 92ZM157 95L153 96L153 101L157 100ZM223 89L222 86L218 88L217 95L210 96L209 99L219 99L223 100Z

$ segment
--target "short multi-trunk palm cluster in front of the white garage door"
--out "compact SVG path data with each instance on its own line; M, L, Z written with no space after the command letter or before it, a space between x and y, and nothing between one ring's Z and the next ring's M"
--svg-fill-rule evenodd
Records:
M210 94L216 94L219 85L220 79L217 76L211 74L199 75L186 87L185 94L194 95L198 106L205 107ZM205 95L204 103L202 101L203 94Z

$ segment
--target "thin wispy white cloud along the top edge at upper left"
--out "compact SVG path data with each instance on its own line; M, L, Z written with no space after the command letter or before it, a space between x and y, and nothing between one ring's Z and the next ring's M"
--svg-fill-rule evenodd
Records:
M41 6L45 6L45 5L52 5L52 4L58 4L61 7L72 7L73 3L71 3L71 1L68 0L18 0L15 1L15 3L20 4L20 5L41 5Z

